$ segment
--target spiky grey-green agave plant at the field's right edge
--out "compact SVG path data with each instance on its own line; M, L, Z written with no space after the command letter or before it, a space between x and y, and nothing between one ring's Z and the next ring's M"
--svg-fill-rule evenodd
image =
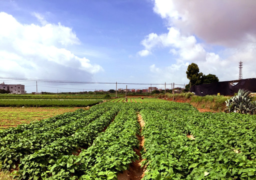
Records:
M250 91L239 89L237 95L227 99L226 111L254 114L256 110L256 102L251 101Z

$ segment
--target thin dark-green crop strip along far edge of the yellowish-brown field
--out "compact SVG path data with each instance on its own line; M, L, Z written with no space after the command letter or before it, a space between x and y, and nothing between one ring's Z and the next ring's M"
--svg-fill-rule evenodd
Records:
M49 106L91 106L102 99L0 99L0 107L49 107Z

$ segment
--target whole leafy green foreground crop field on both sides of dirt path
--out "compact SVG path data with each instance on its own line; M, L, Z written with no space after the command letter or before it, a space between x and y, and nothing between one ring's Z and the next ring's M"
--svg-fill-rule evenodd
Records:
M255 127L255 115L187 103L104 102L0 130L0 168L17 179L117 179L141 135L144 180L256 179Z

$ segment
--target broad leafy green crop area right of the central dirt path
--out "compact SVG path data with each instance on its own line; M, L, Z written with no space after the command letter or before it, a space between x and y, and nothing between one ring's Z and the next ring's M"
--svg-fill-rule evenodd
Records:
M255 179L256 117L193 110L140 111L143 179Z

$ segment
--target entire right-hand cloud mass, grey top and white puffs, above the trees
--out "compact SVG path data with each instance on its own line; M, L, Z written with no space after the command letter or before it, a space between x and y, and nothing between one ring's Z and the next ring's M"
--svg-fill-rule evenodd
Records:
M185 71L191 62L204 74L216 74L221 81L238 79L240 60L244 62L243 78L256 77L255 0L153 1L153 10L167 22L168 32L152 32L141 44L150 53L169 48L173 55L165 61L167 67L149 66L156 79L169 77L186 82Z

